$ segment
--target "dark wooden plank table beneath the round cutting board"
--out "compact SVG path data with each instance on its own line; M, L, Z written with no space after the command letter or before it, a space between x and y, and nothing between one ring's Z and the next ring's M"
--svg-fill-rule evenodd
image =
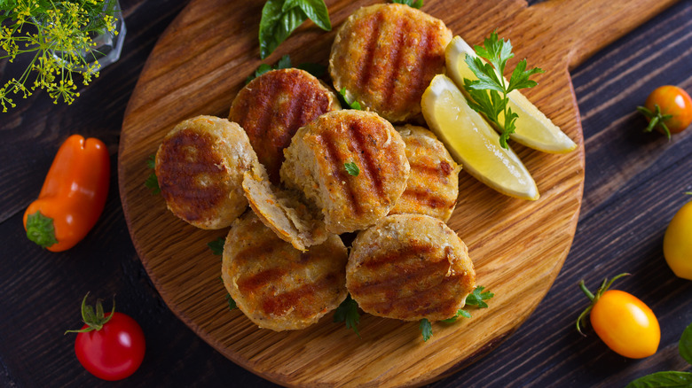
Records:
M432 0L429 0L432 1ZM530 2L536 3L536 2ZM42 92L0 113L0 386L273 386L216 353L178 321L153 288L125 225L117 190L122 115L156 39L183 0L122 0L128 34L122 58L106 67L73 105ZM649 91L673 84L692 93L692 0L682 0L571 72L586 144L586 182L577 234L547 297L507 341L468 369L432 384L477 386L624 386L660 370L691 370L678 355L692 323L692 282L666 266L662 241L672 215L692 191L692 129L671 141L642 134L634 113ZM26 61L0 62L0 79ZM83 242L62 253L28 242L24 209L38 195L59 144L71 134L108 146L113 177L106 210ZM692 237L690 237L692 238ZM625 359L574 321L605 276L649 304L661 324L658 352ZM146 337L140 369L118 383L91 376L75 357L79 305L116 295ZM106 308L110 307L106 303Z

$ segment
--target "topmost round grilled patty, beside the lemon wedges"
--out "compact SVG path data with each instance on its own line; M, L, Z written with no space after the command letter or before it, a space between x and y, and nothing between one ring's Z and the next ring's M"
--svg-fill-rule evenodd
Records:
M337 90L392 122L421 113L421 97L444 73L452 31L404 4L360 8L339 28L329 59Z

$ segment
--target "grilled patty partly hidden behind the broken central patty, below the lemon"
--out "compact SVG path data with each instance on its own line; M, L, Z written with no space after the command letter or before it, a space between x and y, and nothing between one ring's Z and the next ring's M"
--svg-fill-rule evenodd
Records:
M397 131L406 144L411 175L389 214L428 214L449 220L459 196L461 167L428 129L405 125Z

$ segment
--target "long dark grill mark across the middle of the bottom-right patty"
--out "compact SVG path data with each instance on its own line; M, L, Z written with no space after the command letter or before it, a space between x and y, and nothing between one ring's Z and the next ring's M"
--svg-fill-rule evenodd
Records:
M446 274L450 267L449 261L446 260L446 257L437 259L441 260L435 262L426 260L421 262L421 265L418 266L397 268L397 274L391 274L390 272L377 274L380 275L379 279L372 278L363 283L353 284L350 287L350 291L356 295L369 295L374 293L388 294L391 291L398 293L404 289L406 284L421 282L431 275Z

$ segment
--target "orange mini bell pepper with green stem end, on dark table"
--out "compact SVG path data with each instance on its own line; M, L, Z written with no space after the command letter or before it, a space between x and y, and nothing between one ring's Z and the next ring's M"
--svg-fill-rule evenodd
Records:
M24 212L27 237L52 252L80 242L106 206L111 168L106 144L69 136L53 159L38 199Z

